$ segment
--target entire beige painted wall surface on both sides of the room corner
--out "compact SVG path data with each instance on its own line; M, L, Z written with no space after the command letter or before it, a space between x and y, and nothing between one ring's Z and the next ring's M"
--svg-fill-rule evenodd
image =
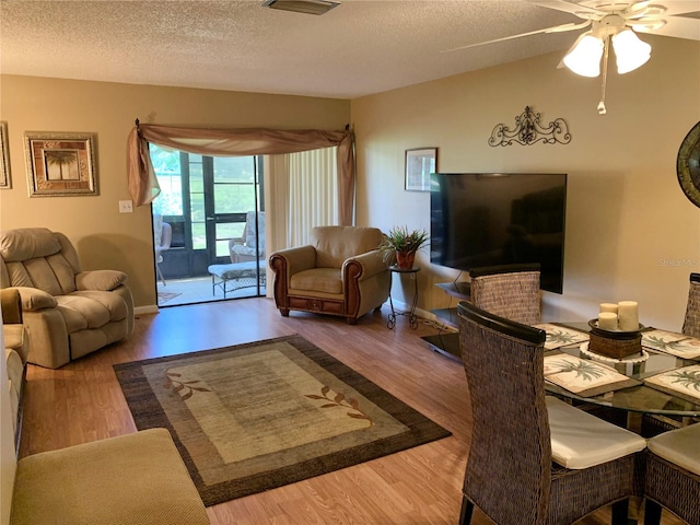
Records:
M137 305L150 306L150 210L120 214L117 206L129 199L126 137L136 117L324 129L351 119L359 224L429 229L428 194L402 189L408 148L438 147L443 172L567 172L564 293L545 294L545 317L591 318L600 301L635 299L642 323L679 329L688 273L700 271L700 210L680 191L675 172L680 141L700 119L700 45L645 38L651 61L627 75L612 72L606 116L595 110L600 80L557 69L560 54L359 98L351 112L350 102L338 100L3 75L0 119L9 126L13 188L0 191L0 228L63 231L85 268L126 271ZM526 105L546 124L564 118L571 143L490 148L493 127L513 126ZM28 198L24 131L96 132L100 196ZM451 305L433 283L457 272L431 267L427 253L420 262L419 307Z

